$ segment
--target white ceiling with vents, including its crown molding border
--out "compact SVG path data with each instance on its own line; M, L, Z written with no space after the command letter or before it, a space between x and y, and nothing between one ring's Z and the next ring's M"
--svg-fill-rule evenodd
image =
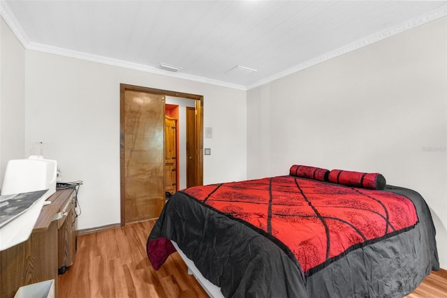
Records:
M447 1L2 0L0 8L28 50L251 89L444 16Z

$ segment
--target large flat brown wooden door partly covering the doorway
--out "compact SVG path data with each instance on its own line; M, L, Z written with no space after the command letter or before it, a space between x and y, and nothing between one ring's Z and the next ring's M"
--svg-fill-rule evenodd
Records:
M122 223L156 218L163 209L164 101L163 94L122 87Z

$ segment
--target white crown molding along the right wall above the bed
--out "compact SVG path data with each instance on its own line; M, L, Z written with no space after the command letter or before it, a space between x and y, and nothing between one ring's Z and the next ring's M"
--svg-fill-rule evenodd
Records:
M418 26L425 24L427 22L437 20L437 19L439 19L439 17L444 17L446 15L447 15L447 5L441 6L440 8L438 8L436 10L432 10L429 13L420 15L419 17L416 17L412 20L408 20L406 22L402 22L401 24L397 24L395 27L390 27L383 31L374 33L371 36L361 38L360 40L356 40L353 43L349 43L347 45L344 45L343 47L339 47L339 48L332 50L328 53L322 54L321 56L315 57L314 59L305 61L302 64L298 64L297 66L293 66L293 67L288 68L284 71L281 71L281 73L277 73L270 77L266 77L263 80L259 80L258 82L255 82L254 84L249 84L247 86L247 90L254 89L254 88L259 87L263 84L268 84L270 82L273 82L274 80L280 79L281 77L286 77L287 75L291 75L293 73L298 73L298 71L300 71L300 70L304 70L304 69L314 66L316 64L321 64L324 61L328 61L335 57L342 56L343 54L352 52L353 50L358 50L361 47L371 45L372 43L376 43L376 42L383 40L385 38L388 38L390 36L394 36L397 33L401 33L403 31L412 29L414 27L418 27Z

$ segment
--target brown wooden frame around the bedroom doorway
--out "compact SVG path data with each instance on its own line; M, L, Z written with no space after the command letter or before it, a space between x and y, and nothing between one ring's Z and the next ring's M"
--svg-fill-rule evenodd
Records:
M119 84L119 176L120 176L120 197L121 197L121 225L124 226L124 93L129 91L139 91L150 94L161 94L164 96L181 97L196 100L196 149L198 156L196 161L196 175L198 185L203 185L203 96L197 94L187 94L177 91L154 89L149 87L135 86L131 84ZM166 103L165 103L166 104ZM164 181L163 181L164 184Z

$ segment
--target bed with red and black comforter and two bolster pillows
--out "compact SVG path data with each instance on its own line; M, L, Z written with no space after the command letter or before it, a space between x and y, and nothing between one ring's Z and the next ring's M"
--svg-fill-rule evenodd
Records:
M404 297L439 270L416 191L377 173L301 165L175 193L147 255L159 269L176 250L223 297Z

